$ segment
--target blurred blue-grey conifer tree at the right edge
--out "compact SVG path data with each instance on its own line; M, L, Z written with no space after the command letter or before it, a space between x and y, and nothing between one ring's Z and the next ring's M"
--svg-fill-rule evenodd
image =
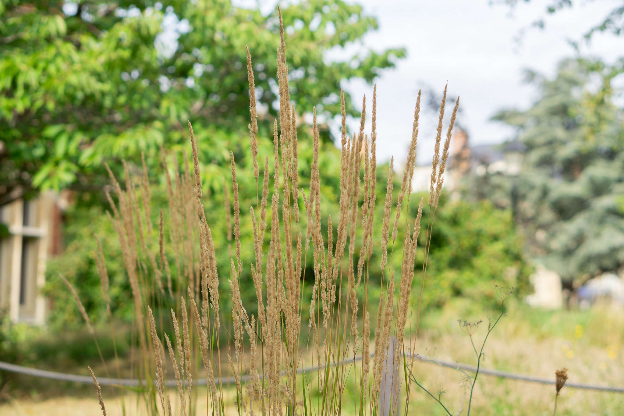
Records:
M624 60L569 59L554 79L529 72L540 97L495 119L528 147L517 220L530 255L563 279L624 265Z

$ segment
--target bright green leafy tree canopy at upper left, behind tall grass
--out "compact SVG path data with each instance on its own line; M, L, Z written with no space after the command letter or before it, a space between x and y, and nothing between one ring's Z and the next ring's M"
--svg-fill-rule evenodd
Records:
M341 80L372 82L402 49L344 51L377 27L358 5L309 0L283 7L296 111L331 119ZM260 137L276 116L277 12L229 0L80 2L0 0L0 205L36 190L99 190L125 158L197 132L204 161L229 161L246 146L245 44L255 69ZM348 112L357 115L346 94ZM329 140L329 131L324 130ZM237 159L238 160L238 159ZM229 167L227 167L229 169Z

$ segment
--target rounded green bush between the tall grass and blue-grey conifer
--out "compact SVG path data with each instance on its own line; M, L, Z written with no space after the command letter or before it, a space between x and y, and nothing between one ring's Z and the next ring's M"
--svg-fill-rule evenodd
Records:
M473 203L445 198L436 211L431 235L425 307L441 307L455 297L495 306L499 301L495 285L514 287L516 294L525 294L529 268L511 214L488 200ZM419 239L421 247L425 238L421 235ZM423 260L421 251L417 269L422 268ZM415 280L418 286L420 280Z

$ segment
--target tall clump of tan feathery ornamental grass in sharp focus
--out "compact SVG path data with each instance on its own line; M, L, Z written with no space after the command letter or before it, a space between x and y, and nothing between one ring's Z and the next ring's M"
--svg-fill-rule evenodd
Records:
M370 132L365 132L364 128L364 97L359 130L348 133L344 94L341 92L339 213L337 219L327 218L325 239L321 226L325 217L321 210L320 140L316 110L312 125L310 186L304 188L299 180L296 114L288 86L281 11L280 47L277 52L280 114L273 124L273 154L263 155L264 163L261 163L261 157L258 161L258 116L249 49L246 56L250 90L251 168L258 195L256 204L249 207L255 254L253 263L246 265L241 261L241 207L236 180L239 167L233 153L230 153L233 200L226 199L225 208L228 213L227 237L228 241L233 239L233 248L230 246L230 268L217 268L210 212L205 211L202 202L200 160L190 122L191 162L184 153L182 167L178 166L178 159L174 157L171 168L162 150L168 215L160 210L158 241L152 239L154 225L150 219L150 189L145 163L142 177L137 181L130 176L124 162L125 189L109 170L117 197L115 203L107 194L112 211L109 216L119 236L134 299L138 346L133 355L133 365L135 376L141 380L139 391L142 402L150 414L172 415L165 382L165 359L168 355L179 401L177 412L184 416L196 412L198 390L195 386L200 374L205 374L201 377L205 377L208 412L212 415L225 414L228 404L222 380L230 374L235 380L235 405L239 415L336 414L342 406L348 377L349 382L354 380L356 385L358 414L379 414L380 386L386 377L390 377L389 383L386 380L384 385L391 385L391 397L382 400L390 400L392 409L397 409L399 392L404 389L409 397L412 381L417 384L412 371L417 359L416 345L411 337L406 337L405 331L409 324L417 332L419 324L431 230L444 183L459 98L445 134L445 87L436 131L429 199L411 201L421 110L419 92L401 189L394 201L394 160L391 159L383 201L381 241L376 241L373 238L378 186L376 89L373 90ZM224 191L228 193L225 185ZM417 205L414 218L409 215L411 203ZM412 293L425 203L430 209L427 223L423 225L426 227L425 244L421 248L424 250L424 265L420 271L419 291ZM232 217L229 215L231 209ZM165 227L165 221L168 227ZM333 224L336 224L335 233ZM165 228L170 230L166 236ZM304 228L305 231L301 231ZM404 230L402 242L396 241L399 228ZM268 244L265 243L265 235L269 237ZM397 255L401 251L402 256L401 268L397 270L391 266L395 244ZM173 264L168 263L165 247L173 253ZM381 253L379 264L371 262L373 251ZM99 252L96 256L102 291L108 304L104 258ZM313 259L314 281L303 279L308 256ZM248 314L246 307L250 305L241 301L240 277L247 267L250 268L256 291L256 315ZM381 276L381 297L375 322L371 322L368 302L371 273ZM229 281L229 293L220 290L219 283L223 279ZM303 299L303 294L309 293L304 290L308 286L311 286L310 318L303 322L302 305L308 301ZM359 304L359 299L363 299L362 304ZM173 339L163 332L163 319L168 319L168 313L164 317L155 316L153 311L157 310L170 311ZM226 314L232 317L231 321L225 319ZM358 321L358 316L363 317L363 322ZM223 322L228 322L228 325L231 322L231 327L228 327L231 337L227 340L220 339L224 333L219 331ZM376 326L373 327L373 323ZM302 324L307 324L310 330L306 339L301 339ZM371 332L374 334L373 342ZM394 339L392 343L391 338ZM227 352L222 351L226 343L233 347L228 347ZM391 345L395 346L392 351ZM369 360L371 352L374 352L372 362ZM354 361L360 356L363 364L356 367ZM224 357L227 357L228 365L222 368ZM313 357L318 369L300 375L303 361L309 357ZM480 357L482 352L478 355L479 361ZM198 363L201 363L202 371ZM398 371L388 372L388 363L395 367L402 366L402 375L395 375L401 374ZM243 379L243 375L247 377ZM409 400L404 405L405 414L408 407ZM102 410L104 412L103 402Z

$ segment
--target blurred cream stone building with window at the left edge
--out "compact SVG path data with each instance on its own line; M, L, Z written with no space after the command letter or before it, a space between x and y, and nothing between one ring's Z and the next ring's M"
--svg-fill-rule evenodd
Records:
M12 322L43 324L46 260L61 251L61 206L56 193L0 207L8 229L0 239L0 309Z

